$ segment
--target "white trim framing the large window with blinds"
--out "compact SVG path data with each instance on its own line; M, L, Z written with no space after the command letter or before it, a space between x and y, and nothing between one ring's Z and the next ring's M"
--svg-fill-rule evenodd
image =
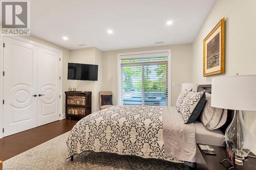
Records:
M171 79L171 50L156 50L156 51L143 51L143 52L132 52L132 53L119 53L117 54L117 104L120 105L120 68L121 68L121 59L125 58L136 58L138 55L142 54L153 54L153 53L168 53L168 106L171 106L172 104L172 81ZM147 57L145 55L141 57Z

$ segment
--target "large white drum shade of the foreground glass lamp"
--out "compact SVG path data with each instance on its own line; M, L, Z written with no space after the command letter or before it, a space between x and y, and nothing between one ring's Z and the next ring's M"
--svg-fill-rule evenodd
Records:
M242 111L256 110L256 75L213 78L211 106Z

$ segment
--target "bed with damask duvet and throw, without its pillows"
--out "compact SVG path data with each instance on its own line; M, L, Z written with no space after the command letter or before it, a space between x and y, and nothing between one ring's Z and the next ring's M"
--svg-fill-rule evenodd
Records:
M209 91L207 87L198 90ZM184 124L176 107L115 106L79 120L67 139L67 158L94 151L195 163L196 143L224 144L221 130L209 133L202 126ZM215 140L204 141L207 135Z

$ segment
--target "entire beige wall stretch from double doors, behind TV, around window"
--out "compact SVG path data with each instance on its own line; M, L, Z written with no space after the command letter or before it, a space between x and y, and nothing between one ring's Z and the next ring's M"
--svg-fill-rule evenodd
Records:
M171 49L171 80L172 80L172 106L175 106L177 96L181 91L181 84L192 81L192 44L165 45L154 47L133 48L127 50L102 52L98 48L83 48L79 50L68 50L37 37L24 37L29 40L56 48L62 51L62 106L65 113L65 93L69 87L77 90L92 91L92 111L99 110L99 95L102 90L113 91L113 103L117 104L117 54L152 50ZM99 65L98 81L76 81L67 80L68 62L86 63ZM182 67L181 67L182 65ZM176 83L173 86L173 83Z

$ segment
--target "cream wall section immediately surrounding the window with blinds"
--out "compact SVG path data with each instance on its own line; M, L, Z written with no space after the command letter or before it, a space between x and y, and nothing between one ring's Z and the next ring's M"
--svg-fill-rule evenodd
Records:
M144 48L133 48L127 50L103 52L103 84L102 90L113 92L113 103L117 105L117 55L119 53L131 53L141 51L171 49L171 81L173 83L184 83L192 81L192 45L166 45ZM181 85L172 86L172 106L175 106L176 99L181 91Z

